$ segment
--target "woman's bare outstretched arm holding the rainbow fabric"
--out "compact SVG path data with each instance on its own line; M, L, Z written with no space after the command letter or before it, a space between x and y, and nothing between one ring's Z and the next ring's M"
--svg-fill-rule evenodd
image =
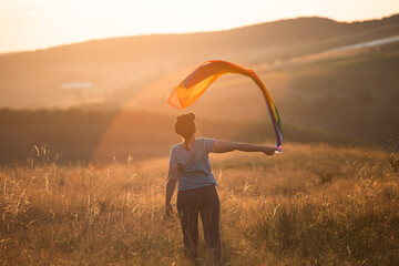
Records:
M253 144L248 144L248 143L226 142L226 141L215 140L213 152L226 153L226 152L233 152L233 151L263 152L266 155L273 155L275 153L276 149L270 147L270 146L253 145Z

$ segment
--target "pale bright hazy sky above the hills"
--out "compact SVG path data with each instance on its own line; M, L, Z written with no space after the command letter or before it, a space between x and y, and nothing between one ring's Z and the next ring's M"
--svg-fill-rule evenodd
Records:
M0 52L303 16L354 21L398 12L399 0L0 0Z

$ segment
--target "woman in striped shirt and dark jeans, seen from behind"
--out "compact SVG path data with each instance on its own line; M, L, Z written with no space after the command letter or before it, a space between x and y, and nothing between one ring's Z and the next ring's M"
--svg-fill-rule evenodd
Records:
M171 198L178 181L177 212L181 219L186 256L197 260L198 213L204 228L204 238L213 263L221 260L219 209L221 203L211 170L208 153L232 151L263 152L273 155L274 147L246 143L224 142L195 137L197 126L193 113L177 116L175 131L183 142L171 151L170 172L166 183L166 215L172 216Z

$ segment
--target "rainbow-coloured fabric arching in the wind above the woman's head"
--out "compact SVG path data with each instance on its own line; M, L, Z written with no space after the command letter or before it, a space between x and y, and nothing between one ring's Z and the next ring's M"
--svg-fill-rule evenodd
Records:
M227 73L246 75L250 78L260 89L276 134L276 151L282 152L282 120L278 115L278 111L272 95L253 70L243 69L236 64L219 60L206 61L178 84L178 86L172 92L167 102L172 106L183 110L193 104L215 80Z

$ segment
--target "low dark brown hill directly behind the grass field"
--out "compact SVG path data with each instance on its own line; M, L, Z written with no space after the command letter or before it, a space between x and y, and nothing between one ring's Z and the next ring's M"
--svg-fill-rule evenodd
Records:
M167 156L180 137L175 117L149 112L101 112L83 110L0 110L0 166L59 165L126 162ZM270 124L239 120L198 117L203 136L274 145ZM329 143L336 146L372 146L285 123L285 143ZM45 152L44 152L45 151ZM38 154L44 153L44 157ZM33 161L32 161L33 160Z

